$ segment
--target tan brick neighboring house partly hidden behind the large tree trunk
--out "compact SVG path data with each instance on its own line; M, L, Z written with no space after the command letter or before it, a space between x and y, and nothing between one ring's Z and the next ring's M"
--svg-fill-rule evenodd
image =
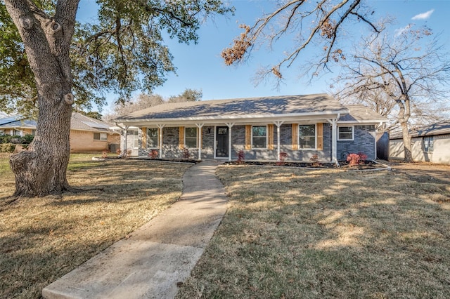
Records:
M110 130L110 124L72 112L70 119L70 152L101 152L120 145L120 135ZM0 132L7 135L27 135L36 132L36 121L2 114Z

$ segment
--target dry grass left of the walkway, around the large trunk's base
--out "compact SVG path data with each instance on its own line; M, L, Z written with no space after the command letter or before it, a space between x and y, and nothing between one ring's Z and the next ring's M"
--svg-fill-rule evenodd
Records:
M90 191L11 204L13 174L1 157L0 298L39 298L41 288L179 199L189 167L91 157L72 155L68 171L73 187Z

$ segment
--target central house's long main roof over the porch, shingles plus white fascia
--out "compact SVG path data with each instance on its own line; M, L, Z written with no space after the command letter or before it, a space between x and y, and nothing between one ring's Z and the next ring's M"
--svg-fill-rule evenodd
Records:
M326 94L165 103L115 119L117 124L281 121L332 118L349 110Z

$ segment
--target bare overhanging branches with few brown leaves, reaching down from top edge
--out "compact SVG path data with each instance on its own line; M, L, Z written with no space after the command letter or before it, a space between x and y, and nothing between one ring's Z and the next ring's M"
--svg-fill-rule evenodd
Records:
M269 47L278 39L292 37L293 49L286 49L285 56L275 64L259 71L258 79L274 74L278 84L282 79L282 67L290 67L300 59L300 53L308 46L321 49L319 57L309 68L313 75L322 68L328 69L329 62L345 60L340 41L341 32L354 22L364 22L372 32L380 33L382 26L371 22L373 11L368 10L361 0L294 0L278 1L275 11L256 20L255 24L240 25L244 32L225 48L221 56L226 65L240 62L248 57L256 45L267 43Z

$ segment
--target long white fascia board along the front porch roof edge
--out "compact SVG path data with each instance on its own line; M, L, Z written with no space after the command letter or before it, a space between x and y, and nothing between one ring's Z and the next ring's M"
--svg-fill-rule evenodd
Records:
M285 114L248 114L248 115L230 115L221 117L180 117L177 119L117 119L121 124L133 124L134 126L143 126L146 124L221 124L229 121L234 121L235 123L269 123L272 121L297 121L299 119L329 119L337 117L338 114L348 113L347 110L337 110L330 112L309 112L309 113L285 113Z

